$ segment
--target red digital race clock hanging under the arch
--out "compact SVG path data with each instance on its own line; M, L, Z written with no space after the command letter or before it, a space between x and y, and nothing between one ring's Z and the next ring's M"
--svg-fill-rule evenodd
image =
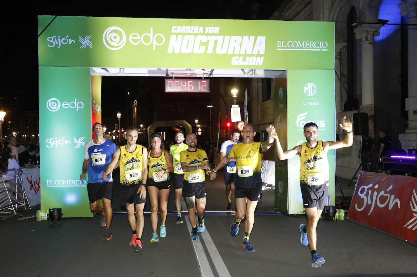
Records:
M210 92L210 79L165 79L165 92Z

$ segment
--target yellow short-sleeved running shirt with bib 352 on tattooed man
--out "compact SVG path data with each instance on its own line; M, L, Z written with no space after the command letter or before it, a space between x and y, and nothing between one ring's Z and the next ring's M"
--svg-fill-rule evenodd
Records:
M208 161L206 151L197 149L195 152L191 152L188 149L180 153L181 162L185 161L187 166L201 166L204 161ZM184 172L184 180L188 183L199 183L206 181L206 174L204 169L196 169L190 172Z

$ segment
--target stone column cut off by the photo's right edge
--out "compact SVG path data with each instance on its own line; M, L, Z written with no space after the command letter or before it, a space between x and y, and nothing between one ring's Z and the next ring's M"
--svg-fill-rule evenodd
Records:
M417 24L417 1L404 0L398 4L401 15L408 15L408 24ZM417 149L417 26L408 26L408 98L405 110L408 111L408 128L399 134L402 149Z

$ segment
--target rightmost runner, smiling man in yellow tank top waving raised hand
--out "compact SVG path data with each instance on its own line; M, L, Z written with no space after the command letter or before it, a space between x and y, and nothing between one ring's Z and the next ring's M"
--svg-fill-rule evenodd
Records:
M324 264L322 255L317 254L317 222L319 222L329 191L329 163L327 152L329 149L339 149L352 145L352 122L343 117L339 126L347 131L343 141L317 141L319 128L316 123L310 122L304 125L304 136L307 142L295 146L293 149L283 151L279 143L278 135L272 134L275 140L275 151L278 158L290 159L295 155L300 156L300 187L304 208L307 214L307 224L301 224L301 244L310 246L311 267L320 267Z

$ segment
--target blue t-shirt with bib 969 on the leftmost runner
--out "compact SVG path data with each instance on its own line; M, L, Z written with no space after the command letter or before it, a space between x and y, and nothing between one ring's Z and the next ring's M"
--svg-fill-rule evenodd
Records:
M107 182L101 178L101 174L103 174L106 166L110 164L116 149L116 144L108 139L105 139L102 144L95 144L93 140L85 144L84 159L88 159L88 183ZM113 177L110 176L108 181L113 181Z

